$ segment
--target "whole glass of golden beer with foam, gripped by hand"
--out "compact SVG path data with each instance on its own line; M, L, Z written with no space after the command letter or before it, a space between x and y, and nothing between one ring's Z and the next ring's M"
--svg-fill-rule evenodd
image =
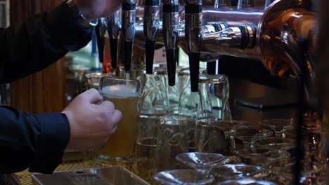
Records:
M132 79L101 77L98 86L103 100L115 104L115 109L122 112L117 131L101 149L94 152L96 158L102 160L116 160L131 162L134 158L134 145L137 129L137 100L140 95L140 82Z

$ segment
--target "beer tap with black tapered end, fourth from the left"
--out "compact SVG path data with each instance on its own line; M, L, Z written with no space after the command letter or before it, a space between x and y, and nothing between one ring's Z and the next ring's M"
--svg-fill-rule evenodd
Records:
M143 31L146 46L146 74L153 74L155 40L160 27L159 0L144 1Z

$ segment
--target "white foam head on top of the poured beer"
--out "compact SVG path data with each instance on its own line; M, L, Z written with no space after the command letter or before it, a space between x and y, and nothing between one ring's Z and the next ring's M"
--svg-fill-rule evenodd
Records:
M108 98L138 97L135 85L110 85L99 90L99 93Z

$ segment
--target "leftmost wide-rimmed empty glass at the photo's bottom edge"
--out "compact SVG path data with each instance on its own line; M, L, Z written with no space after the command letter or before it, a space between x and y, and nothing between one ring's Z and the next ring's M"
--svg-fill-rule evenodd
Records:
M159 172L154 179L160 184L174 185L205 185L212 184L214 177L212 175L205 175L195 170L167 170Z

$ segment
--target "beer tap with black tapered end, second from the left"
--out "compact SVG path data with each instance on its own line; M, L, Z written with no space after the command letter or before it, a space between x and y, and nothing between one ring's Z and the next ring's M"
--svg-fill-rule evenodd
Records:
M121 29L121 11L116 11L106 19L110 38L111 66L117 68L117 42Z

